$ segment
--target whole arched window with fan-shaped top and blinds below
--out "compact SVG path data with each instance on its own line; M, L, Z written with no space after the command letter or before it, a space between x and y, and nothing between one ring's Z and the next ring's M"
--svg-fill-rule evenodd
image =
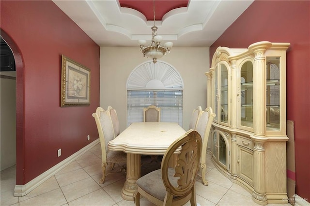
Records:
M183 126L183 80L171 65L157 61L136 67L127 80L127 126L143 121L143 108L161 108L160 121Z

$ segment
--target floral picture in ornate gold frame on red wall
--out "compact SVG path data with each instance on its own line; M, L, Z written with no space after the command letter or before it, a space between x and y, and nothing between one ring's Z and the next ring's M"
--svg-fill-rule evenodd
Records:
M91 71L62 55L61 107L90 104Z

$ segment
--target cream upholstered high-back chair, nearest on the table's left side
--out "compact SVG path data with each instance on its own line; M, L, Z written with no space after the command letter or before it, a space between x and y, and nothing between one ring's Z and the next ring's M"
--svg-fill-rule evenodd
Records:
M126 163L127 158L126 153L122 151L108 150L108 143L110 140L114 139L115 136L109 111L105 111L103 108L98 107L96 112L93 113L93 118L95 118L97 125L102 154L102 178L100 179L99 184L103 184L107 176L107 165L109 164L110 170L113 170L115 163Z

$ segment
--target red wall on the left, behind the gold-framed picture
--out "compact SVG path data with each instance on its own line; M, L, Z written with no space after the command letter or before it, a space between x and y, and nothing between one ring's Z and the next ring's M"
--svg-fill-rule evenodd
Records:
M1 36L16 59L16 184L23 185L98 138L100 47L50 0L0 7ZM89 106L60 107L62 54L91 70Z

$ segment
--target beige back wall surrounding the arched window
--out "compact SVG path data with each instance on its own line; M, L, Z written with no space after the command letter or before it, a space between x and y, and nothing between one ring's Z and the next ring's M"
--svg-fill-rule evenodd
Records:
M183 127L188 129L190 115L197 106L207 105L207 77L209 70L209 48L172 48L171 53L159 59L173 66L184 83ZM111 105L117 110L120 129L126 128L126 82L136 67L150 61L143 58L137 47L100 48L100 106Z

